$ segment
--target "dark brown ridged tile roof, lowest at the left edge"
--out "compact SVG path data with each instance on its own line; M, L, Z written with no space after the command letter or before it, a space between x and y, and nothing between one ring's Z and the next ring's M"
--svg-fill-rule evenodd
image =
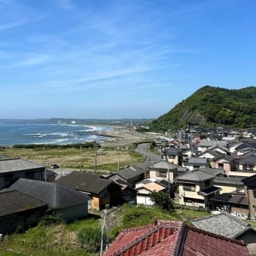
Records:
M0 217L37 209L42 206L47 206L47 203L17 190L0 193Z

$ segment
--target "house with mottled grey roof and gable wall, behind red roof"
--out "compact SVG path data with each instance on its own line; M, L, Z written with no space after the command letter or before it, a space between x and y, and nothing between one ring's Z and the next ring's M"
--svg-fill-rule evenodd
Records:
M192 224L201 230L231 239L239 239L247 244L256 242L256 231L251 227L251 224L227 212L194 220Z

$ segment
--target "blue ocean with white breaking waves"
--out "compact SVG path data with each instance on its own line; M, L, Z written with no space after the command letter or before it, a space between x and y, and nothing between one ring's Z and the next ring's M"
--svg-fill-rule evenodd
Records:
M69 124L0 124L0 146L23 144L72 144L103 141L93 132L112 130L105 126Z

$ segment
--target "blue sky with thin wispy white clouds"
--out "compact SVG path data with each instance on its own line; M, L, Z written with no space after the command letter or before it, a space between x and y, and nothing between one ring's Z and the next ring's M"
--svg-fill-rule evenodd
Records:
M0 118L155 118L254 86L254 0L0 0Z

